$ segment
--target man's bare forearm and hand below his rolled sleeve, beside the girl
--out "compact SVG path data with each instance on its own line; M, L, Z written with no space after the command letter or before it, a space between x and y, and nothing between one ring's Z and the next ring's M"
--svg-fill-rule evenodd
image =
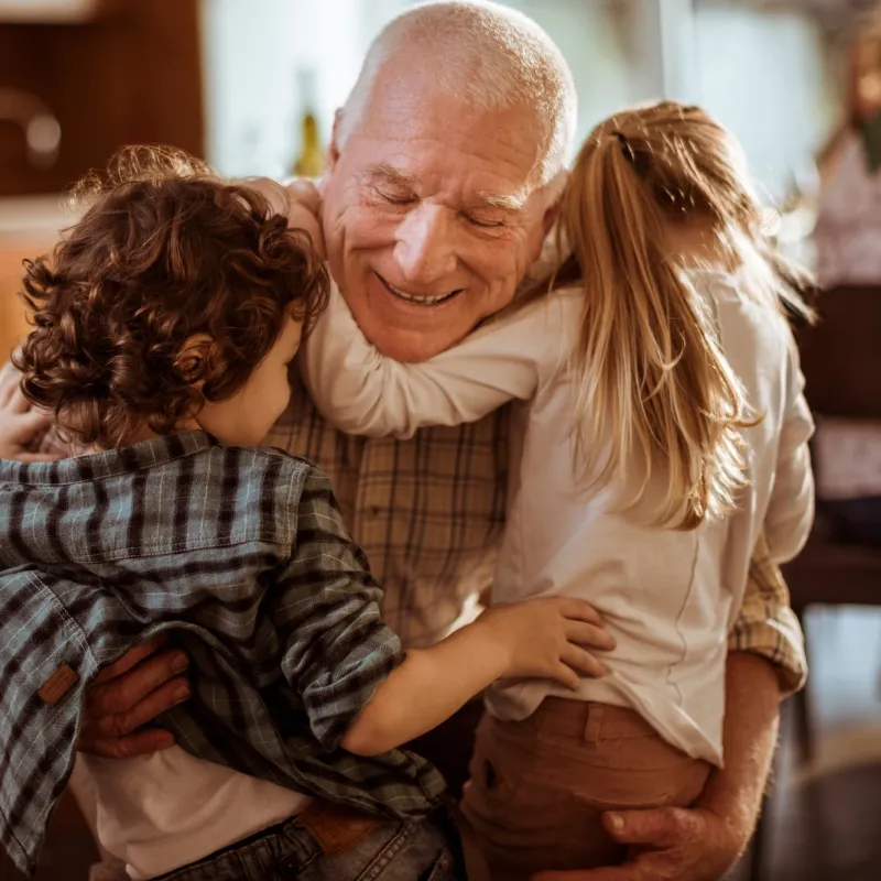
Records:
M743 852L761 807L777 735L774 667L748 652L728 655L725 768L690 808L610 812L609 835L630 845L622 866L539 872L531 881L718 881Z

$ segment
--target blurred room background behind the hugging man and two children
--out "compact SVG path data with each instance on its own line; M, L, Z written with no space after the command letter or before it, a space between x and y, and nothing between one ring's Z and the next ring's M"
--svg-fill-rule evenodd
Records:
M787 701L755 846L737 877L881 879L881 11L874 0L510 0L557 41L579 135L655 97L743 144L783 246L817 273L800 337L818 414L816 539L787 569L811 688ZM411 0L0 0L0 359L26 333L21 261L70 220L63 189L121 145L224 175L320 173L333 115ZM41 878L91 860L74 808ZM13 878L0 860L0 875Z

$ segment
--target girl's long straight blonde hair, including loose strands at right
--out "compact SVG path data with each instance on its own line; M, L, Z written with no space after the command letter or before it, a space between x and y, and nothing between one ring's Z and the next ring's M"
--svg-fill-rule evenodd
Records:
M751 293L777 319L781 297L807 315L776 281L782 261L762 217L739 145L696 107L662 101L618 113L575 162L558 226L569 257L555 284L568 276L586 291L572 363L576 456L595 485L641 481L626 508L661 479L655 525L695 529L732 510L747 482L741 429L761 420L671 232L703 226L725 263L766 270L768 283ZM588 428L598 418L611 432L605 449Z

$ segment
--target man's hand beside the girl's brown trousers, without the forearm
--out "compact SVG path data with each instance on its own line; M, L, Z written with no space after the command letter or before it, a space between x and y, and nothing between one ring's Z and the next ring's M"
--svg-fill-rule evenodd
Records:
M531 881L718 881L746 846L725 817L700 807L610 813L602 825L631 846L623 866L540 872Z

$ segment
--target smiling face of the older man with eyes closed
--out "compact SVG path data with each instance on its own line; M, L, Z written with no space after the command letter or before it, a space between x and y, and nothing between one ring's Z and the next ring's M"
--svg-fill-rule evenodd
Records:
M511 302L550 206L534 113L475 110L394 67L331 148L323 224L330 271L368 339L418 361Z

